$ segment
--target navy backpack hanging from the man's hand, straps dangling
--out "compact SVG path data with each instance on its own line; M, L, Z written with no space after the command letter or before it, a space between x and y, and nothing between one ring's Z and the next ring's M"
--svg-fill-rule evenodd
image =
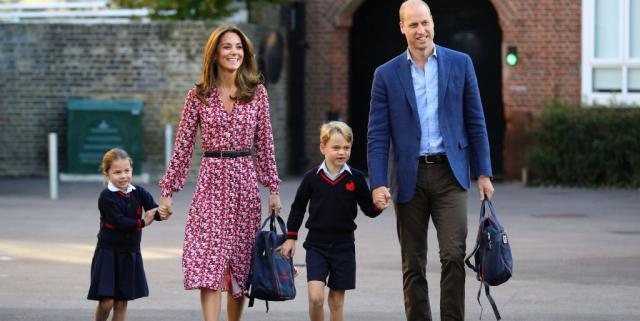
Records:
M489 211L485 208L489 207ZM474 264L471 264L471 257ZM496 319L500 320L500 313L495 301L489 293L489 286L500 285L511 278L513 272L513 259L511 258L511 246L509 238L504 228L498 221L493 210L493 204L485 196L480 208L480 226L478 227L478 237L473 251L465 258L465 263L476 272L476 278L480 281L478 289L478 303L480 304L480 318L482 318L482 304L480 303L480 293L484 285L485 294Z

